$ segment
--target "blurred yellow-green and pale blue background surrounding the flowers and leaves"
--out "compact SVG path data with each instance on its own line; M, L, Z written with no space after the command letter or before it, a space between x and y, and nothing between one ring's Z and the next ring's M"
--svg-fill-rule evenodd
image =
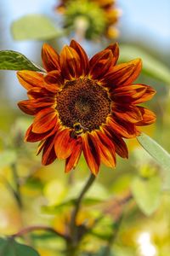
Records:
M11 24L23 15L42 14L60 26L61 17L54 12L57 1L54 0L0 0L0 50L13 49L26 55L37 64L41 63L41 47L45 41L15 41L11 35ZM122 9L122 17L118 22L120 37L117 41L144 49L170 68L170 2L168 0L117 0L117 7ZM54 41L46 41L54 44ZM69 43L68 38L58 38L59 49ZM101 44L82 42L89 55L101 48ZM132 48L133 55L133 48ZM140 57L140 56L139 56ZM23 143L24 132L31 122L17 108L17 102L26 98L26 91L20 86L15 72L0 73L0 235L9 235L27 224L50 224L54 228L64 230L66 218L71 208L58 207L48 214L42 211L44 205L60 205L63 201L75 198L83 182L88 177L88 167L81 159L73 174L64 173L64 162L55 161L53 165L42 167L40 157L36 157L37 146ZM169 85L159 79L142 74L140 83L150 84L157 90L156 97L149 103L157 114L156 125L144 128L144 132L154 137L163 148L170 152L170 97ZM116 170L102 166L99 177L89 197L111 201L116 196L126 195L132 186L133 179L139 176L161 179L160 167L150 159L135 140L128 143L129 160L117 160ZM14 185L11 163L16 161L20 179L20 191L24 208L21 210L11 195L6 183ZM74 185L72 185L74 184ZM159 186L158 186L159 187ZM141 191L142 196L143 191ZM156 190L157 193L157 190ZM150 216L146 216L133 202L127 206L121 230L114 244L116 256L167 256L170 253L170 195L168 190L160 189L157 207ZM89 207L89 206L88 206ZM98 207L85 207L82 220L93 219L99 214ZM102 207L101 207L102 208ZM104 214L104 213L103 213ZM109 212L96 234L111 231L111 219L116 218L116 211ZM82 214L83 215L83 214ZM90 217L89 217L90 216ZM80 219L80 222L82 221ZM108 228L109 227L109 228ZM103 231L102 231L103 230ZM34 237L35 238L35 237ZM47 238L47 237L46 237ZM34 239L32 239L34 241ZM41 256L62 255L63 241L49 237L47 242L35 238L33 245ZM88 244L88 246L87 246ZM84 247L95 252L105 245L99 236L89 236ZM56 251L58 254L56 254ZM84 254L91 255L91 254ZM94 254L92 254L94 255Z

